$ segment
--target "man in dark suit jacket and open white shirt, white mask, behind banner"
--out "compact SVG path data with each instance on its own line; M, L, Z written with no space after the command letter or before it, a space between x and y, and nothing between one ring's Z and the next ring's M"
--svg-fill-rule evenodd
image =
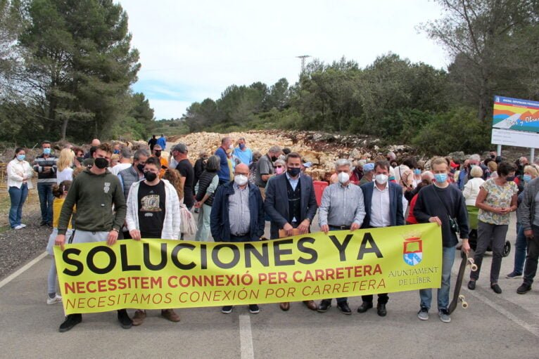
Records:
M365 202L365 218L361 228L379 228L404 225L402 211L402 188L397 183L388 182L389 162L378 161L374 164L374 182L361 185ZM386 316L388 294L378 294L378 315ZM362 296L363 303L357 308L364 313L372 308L372 295Z

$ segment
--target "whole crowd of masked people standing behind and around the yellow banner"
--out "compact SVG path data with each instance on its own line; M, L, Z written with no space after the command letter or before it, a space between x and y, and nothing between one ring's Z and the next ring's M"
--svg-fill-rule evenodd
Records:
M25 160L25 149L17 148L7 167L11 228L25 228L22 209L35 174L40 225L52 228L47 245L51 255L53 245L63 247L66 242L113 245L117 240L183 239L184 235L194 235L197 241L253 242L265 239L266 221L270 221L270 239L277 239L309 233L317 213L324 233L437 223L443 245L438 317L450 322L455 250L469 254L474 248L478 270L471 273L467 285L474 290L490 248L490 288L501 294L503 248L510 213L517 211L514 270L507 278L524 277L516 289L519 294L531 289L539 256L538 159L529 163L521 157L512 164L494 151L486 159L471 155L462 163L450 157L399 161L393 152L374 159L338 159L318 204L315 182L305 174L311 164L288 148L273 145L262 154L248 148L245 138L224 137L215 153L200 152L191 164L186 144L172 146L168 159L162 156L166 146L163 135L152 136L147 146L134 152L120 143L94 139L87 152L68 145L56 157L51 143L44 141L42 154L32 165ZM198 213L196 225L191 211ZM189 230L195 227L196 231ZM56 287L56 266L51 261L49 304L61 302ZM387 293L378 294L376 313L381 317L387 315L389 298ZM431 301L432 290L421 289L420 320L429 319ZM323 313L331 302L328 298L318 304L304 303ZM342 313L352 313L347 298L337 298L336 303ZM279 307L288 311L290 303ZM364 295L357 312L373 307L373 296ZM224 306L221 311L232 310ZM250 303L248 310L259 313L260 308ZM179 321L172 308L161 315ZM137 309L133 318L125 309L118 311L120 325L126 329L141 325L145 318L143 309ZM60 331L81 320L80 314L68 315Z

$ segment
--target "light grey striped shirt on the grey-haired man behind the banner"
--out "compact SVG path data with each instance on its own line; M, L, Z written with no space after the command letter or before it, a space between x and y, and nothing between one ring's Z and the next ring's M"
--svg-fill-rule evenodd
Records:
M352 226L362 225L365 217L363 191L357 185L349 183L329 185L322 194L322 203L318 209L320 226Z

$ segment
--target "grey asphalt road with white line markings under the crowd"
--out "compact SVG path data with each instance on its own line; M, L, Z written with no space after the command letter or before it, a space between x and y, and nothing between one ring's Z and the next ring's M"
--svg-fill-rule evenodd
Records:
M514 237L513 221L507 239L514 243ZM246 306L234 307L229 315L220 308L180 309L182 321L172 323L159 311L148 311L143 325L126 330L115 313L96 313L83 315L82 323L66 333L58 332L61 305L46 304L50 259L45 257L0 281L0 357L539 358L539 285L516 294L521 280L505 279L513 255L512 250L502 262L503 293L495 294L488 283L487 254L476 290L465 284L462 289L469 308L457 308L449 324L433 309L430 320L417 319L419 293L401 292L390 294L385 318L376 310L357 313L361 299L355 297L349 300L352 315L335 306L317 313L292 303L290 311L282 312L277 304L267 304L256 315ZM433 304L436 308L436 294Z

